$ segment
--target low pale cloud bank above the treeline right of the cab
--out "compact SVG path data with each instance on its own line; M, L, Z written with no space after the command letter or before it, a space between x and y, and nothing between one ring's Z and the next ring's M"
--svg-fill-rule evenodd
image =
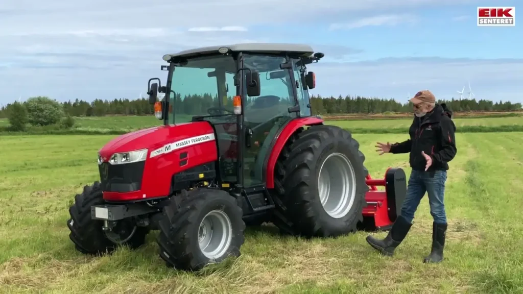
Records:
M473 60L399 58L309 66L316 73L314 93L396 98L430 89L438 98L458 98L470 81L476 99L523 101L523 59ZM468 94L465 94L468 95Z

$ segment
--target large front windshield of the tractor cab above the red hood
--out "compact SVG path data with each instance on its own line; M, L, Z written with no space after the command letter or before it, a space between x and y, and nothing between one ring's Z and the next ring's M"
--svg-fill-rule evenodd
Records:
M193 58L176 64L168 96L169 125L190 122L194 116L232 115L235 73L232 56Z

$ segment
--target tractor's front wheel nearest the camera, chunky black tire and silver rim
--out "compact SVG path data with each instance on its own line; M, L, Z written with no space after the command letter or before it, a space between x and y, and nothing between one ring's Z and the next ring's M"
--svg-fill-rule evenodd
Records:
M179 204L172 197L159 222L160 256L167 266L189 271L240 256L245 230L242 217L236 199L223 190L191 190ZM214 236L219 237L218 242ZM209 245L204 247L206 242Z

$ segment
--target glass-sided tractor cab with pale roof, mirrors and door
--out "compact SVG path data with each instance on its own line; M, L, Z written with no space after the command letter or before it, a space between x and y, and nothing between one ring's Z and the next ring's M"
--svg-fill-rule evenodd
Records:
M150 80L150 102L164 125L211 123L224 187L264 186L271 143L290 120L311 116L306 64L323 56L313 53L300 44L237 44L167 54L167 81Z

